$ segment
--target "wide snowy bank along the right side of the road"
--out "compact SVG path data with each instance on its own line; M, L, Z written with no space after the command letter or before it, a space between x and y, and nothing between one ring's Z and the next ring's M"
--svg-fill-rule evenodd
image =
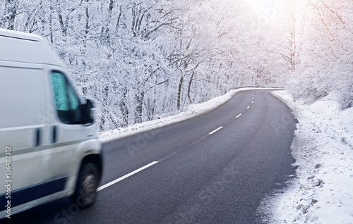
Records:
M334 96L311 105L287 91L273 93L299 120L292 142L296 178L263 201L265 223L353 223L353 108Z

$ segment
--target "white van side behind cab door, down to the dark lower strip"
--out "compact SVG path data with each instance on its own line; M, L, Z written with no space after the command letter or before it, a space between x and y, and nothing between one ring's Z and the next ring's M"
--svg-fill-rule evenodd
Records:
M13 191L47 181L50 157L48 150L35 151L37 147L48 144L45 140L47 124L37 119L44 113L44 96L47 93L42 77L45 71L23 68L21 63L18 65L19 68L0 66L0 149L4 152L6 147L11 147ZM5 159L0 160L0 167L3 170ZM38 170L42 171L39 173ZM0 182L5 183L5 178L5 173L0 175Z

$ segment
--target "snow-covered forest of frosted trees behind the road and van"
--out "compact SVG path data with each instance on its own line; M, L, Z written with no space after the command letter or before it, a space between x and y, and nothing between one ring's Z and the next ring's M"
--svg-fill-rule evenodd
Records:
M245 86L353 106L349 0L1 0L0 11L1 28L52 45L100 131Z

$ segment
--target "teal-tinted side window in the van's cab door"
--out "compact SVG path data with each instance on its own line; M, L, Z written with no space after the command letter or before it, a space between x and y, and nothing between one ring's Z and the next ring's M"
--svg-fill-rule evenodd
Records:
M63 73L52 73L56 111L63 123L80 123L80 100Z

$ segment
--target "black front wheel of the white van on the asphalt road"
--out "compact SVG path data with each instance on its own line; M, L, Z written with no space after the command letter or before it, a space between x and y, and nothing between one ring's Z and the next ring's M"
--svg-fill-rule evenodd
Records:
M95 203L97 198L97 185L100 177L97 166L94 163L87 163L80 169L78 175L75 194L73 194L74 203L81 208L88 208Z

